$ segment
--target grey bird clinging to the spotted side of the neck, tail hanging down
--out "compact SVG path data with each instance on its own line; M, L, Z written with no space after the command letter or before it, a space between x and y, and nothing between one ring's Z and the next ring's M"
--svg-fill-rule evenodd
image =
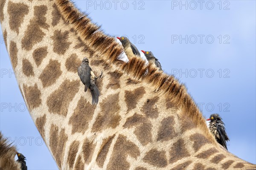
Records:
M87 91L87 88L90 89L90 92L92 94L92 104L97 105L99 102L99 89L97 88L95 82L96 79L102 76L102 74L99 77L95 77L92 69L89 66L89 60L87 57L84 57L81 65L78 68L78 75L81 79L81 81L84 84L84 91Z

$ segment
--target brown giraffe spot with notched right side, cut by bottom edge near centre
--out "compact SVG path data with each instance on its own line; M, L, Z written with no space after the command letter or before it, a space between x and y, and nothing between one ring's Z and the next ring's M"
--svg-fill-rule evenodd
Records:
M123 135L119 135L113 148L113 152L108 162L107 170L128 170L128 156L137 159L140 156L139 147L133 142L127 140Z

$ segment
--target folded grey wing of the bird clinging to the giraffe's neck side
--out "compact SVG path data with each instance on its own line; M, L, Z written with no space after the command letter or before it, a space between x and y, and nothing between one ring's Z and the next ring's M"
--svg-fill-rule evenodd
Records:
M88 88L90 87L90 71L91 71L91 68L87 64L80 65L78 70L77 70L78 75L79 75L81 81Z

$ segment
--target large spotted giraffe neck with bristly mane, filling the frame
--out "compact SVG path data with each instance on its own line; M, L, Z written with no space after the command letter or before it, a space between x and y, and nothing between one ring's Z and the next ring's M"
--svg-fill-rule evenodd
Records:
M256 169L222 148L183 84L122 47L69 0L2 0L6 48L29 113L59 169ZM91 105L83 57L101 93ZM157 91L155 91L157 89Z

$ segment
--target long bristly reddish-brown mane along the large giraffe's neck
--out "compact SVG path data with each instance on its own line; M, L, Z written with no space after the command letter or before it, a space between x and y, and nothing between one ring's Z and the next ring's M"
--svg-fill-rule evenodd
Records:
M115 38L105 34L99 26L92 23L87 14L82 13L70 0L56 0L62 17L78 33L81 40L87 41L106 61L119 66L120 70L130 75L131 78L145 82L165 96L177 108L181 108L184 116L190 119L201 129L209 139L214 136L209 132L205 117L198 109L192 97L188 94L184 84L180 83L173 75L158 71L152 64L146 65L141 57L131 56L129 62L120 60L123 48ZM218 146L215 140L212 140Z

